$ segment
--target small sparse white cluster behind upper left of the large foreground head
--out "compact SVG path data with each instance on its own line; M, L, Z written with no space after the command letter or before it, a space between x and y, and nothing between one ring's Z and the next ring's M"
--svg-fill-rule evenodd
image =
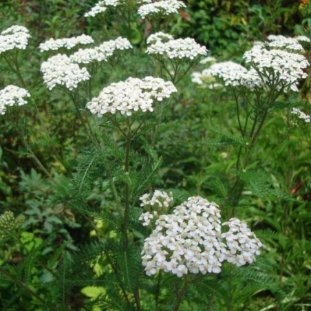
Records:
M151 199L149 197L149 193L145 193L140 197L140 201L142 201L140 206L147 210L146 213L142 213L139 217L140 221L144 221L142 226L149 226L151 221L154 222L158 219L159 215L166 214L173 203L172 193L167 194L164 191L156 190Z

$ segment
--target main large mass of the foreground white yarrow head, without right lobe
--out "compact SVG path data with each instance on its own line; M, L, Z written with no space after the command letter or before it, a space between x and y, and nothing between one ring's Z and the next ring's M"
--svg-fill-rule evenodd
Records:
M142 265L147 275L159 270L178 277L190 273L219 273L226 259L221 242L220 212L202 197L189 197L173 214L160 215L144 240Z

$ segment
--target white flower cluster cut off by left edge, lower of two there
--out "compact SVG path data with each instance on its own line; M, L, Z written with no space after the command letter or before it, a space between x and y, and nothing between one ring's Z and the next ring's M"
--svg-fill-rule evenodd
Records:
M17 87L15 85L8 85L0 90L0 114L6 114L6 107L13 105L25 105L27 100L25 97L30 97L26 89Z

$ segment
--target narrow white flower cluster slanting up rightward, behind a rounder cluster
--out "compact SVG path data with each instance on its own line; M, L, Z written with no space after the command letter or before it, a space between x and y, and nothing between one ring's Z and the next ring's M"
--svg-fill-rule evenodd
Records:
M130 48L132 48L132 45L129 40L119 36L115 40L109 40L94 48L79 49L70 56L70 59L78 64L106 61L116 50L128 50Z

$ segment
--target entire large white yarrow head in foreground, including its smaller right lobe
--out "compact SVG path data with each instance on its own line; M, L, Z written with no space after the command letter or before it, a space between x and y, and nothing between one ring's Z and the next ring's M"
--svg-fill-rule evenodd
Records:
M149 219L141 220L144 226L149 224ZM229 230L222 233L222 226ZM222 224L217 204L189 197L173 213L158 217L151 235L144 239L142 265L149 276L160 270L178 277L219 273L224 261L236 266L253 263L260 247L246 223L232 218Z

